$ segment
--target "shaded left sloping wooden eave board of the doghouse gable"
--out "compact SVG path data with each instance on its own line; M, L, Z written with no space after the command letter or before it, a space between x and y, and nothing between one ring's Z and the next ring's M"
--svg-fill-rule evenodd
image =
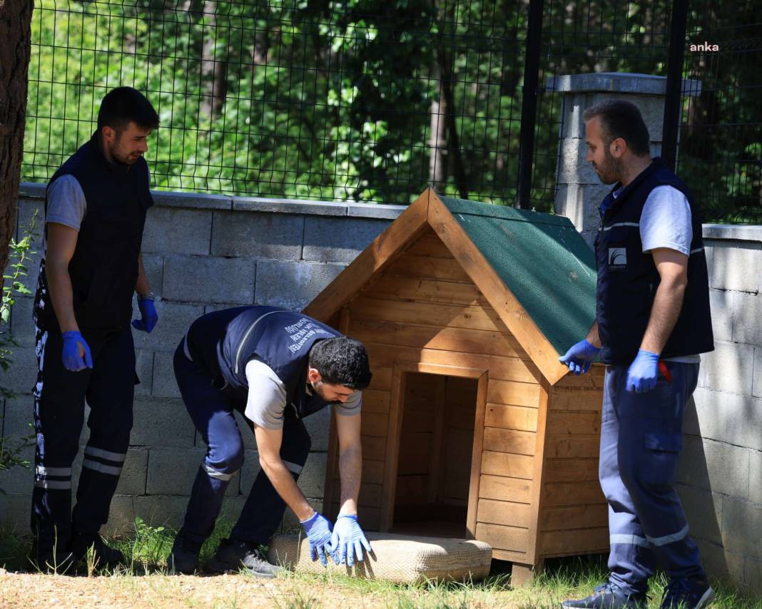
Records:
M303 312L325 322L351 301L376 273L388 266L417 234L427 228L428 206L433 195L434 191L430 188L424 190L395 222L315 296Z

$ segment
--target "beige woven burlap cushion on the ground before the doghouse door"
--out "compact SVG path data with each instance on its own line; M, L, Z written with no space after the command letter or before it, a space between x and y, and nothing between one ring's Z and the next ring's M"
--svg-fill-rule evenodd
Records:
M484 579L489 573L492 548L483 541L444 537L412 537L367 533L373 553L350 569L328 560L328 571L402 584L435 579L440 582ZM309 560L309 543L303 535L277 535L267 558L302 573L322 573L319 560Z

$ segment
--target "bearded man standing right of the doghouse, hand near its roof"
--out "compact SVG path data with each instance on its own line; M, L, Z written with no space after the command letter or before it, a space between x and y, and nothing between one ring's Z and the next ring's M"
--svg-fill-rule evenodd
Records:
M609 504L610 578L563 607L645 607L659 560L661 607L706 607L714 592L674 489L683 413L712 351L699 210L684 183L648 154L648 129L623 100L584 112L587 160L607 184L595 240L597 312L561 361L606 367L600 486Z

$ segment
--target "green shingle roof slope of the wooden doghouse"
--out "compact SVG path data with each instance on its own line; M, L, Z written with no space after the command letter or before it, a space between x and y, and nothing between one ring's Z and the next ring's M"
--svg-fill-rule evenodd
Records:
M595 257L568 218L439 196L559 353L595 319Z

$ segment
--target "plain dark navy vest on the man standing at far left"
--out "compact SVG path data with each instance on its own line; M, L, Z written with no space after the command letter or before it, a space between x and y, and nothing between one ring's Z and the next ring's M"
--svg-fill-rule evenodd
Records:
M62 164L50 183L67 174L76 178L87 203L69 262L77 324L90 329L126 327L132 315L146 211L153 205L148 164L143 158L133 165L110 164L96 132ZM44 269L36 300L37 324L58 327Z

